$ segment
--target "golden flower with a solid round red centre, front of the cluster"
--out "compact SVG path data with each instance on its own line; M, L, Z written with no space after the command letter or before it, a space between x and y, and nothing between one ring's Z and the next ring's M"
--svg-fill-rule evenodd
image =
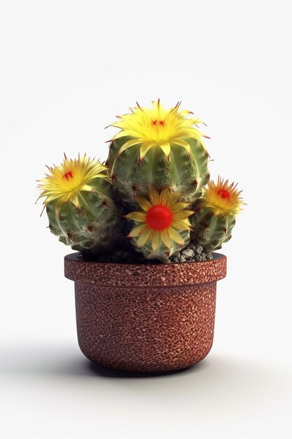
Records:
M158 250L162 243L169 250L173 241L183 245L176 229L191 229L188 217L193 215L193 210L183 210L189 203L179 202L180 197L179 192L169 192L168 188L159 194L153 187L149 188L149 201L144 197L135 197L143 212L130 212L125 217L141 224L134 227L127 237L137 237L138 247L151 241L153 251Z

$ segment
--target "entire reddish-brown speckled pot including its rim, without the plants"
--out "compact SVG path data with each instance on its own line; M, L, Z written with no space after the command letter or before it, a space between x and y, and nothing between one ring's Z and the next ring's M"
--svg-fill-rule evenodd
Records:
M209 353L214 335L216 281L226 257L183 264L107 264L65 257L75 281L81 351L115 369L183 369Z

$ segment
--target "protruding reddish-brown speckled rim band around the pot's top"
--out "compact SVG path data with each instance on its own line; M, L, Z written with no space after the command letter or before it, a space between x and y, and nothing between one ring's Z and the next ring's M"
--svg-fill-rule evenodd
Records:
M86 261L78 252L64 257L65 277L99 287L144 288L187 286L216 282L226 276L226 257L176 264L120 264Z

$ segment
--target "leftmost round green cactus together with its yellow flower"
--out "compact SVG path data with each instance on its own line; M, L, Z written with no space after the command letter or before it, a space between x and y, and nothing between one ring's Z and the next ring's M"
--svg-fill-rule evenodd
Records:
M83 255L110 251L121 238L121 212L106 166L97 160L65 155L39 180L50 231Z

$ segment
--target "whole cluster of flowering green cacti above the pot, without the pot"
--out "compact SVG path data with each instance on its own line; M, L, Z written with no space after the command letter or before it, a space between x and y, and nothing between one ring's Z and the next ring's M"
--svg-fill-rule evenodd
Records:
M64 156L39 180L50 231L96 260L211 257L231 238L244 202L234 183L209 181L200 123L180 102L165 109L160 100L118 116L105 164Z

